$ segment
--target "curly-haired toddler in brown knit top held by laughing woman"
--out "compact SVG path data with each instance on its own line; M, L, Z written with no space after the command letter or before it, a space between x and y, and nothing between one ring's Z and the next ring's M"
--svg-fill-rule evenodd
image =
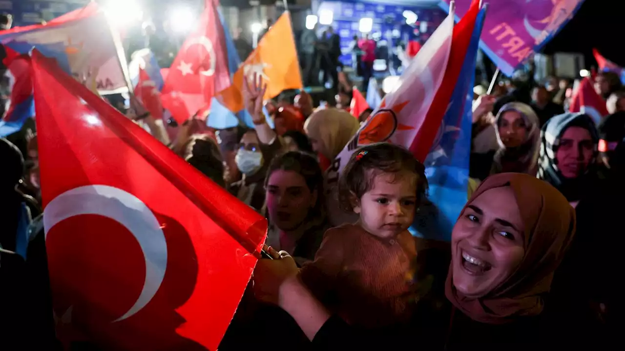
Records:
M416 247L407 229L426 190L423 165L402 147L371 144L352 154L339 202L360 219L327 230L314 261L300 272L347 323L376 328L410 317Z

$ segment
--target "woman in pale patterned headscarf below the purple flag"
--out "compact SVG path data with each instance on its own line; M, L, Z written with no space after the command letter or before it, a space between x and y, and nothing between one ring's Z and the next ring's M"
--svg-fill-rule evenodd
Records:
M499 150L491 174L518 172L536 175L540 147L540 122L529 105L509 102L495 120Z

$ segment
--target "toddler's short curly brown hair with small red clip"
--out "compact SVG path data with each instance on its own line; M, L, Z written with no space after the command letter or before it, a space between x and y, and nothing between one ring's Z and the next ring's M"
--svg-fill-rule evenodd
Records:
M367 171L375 170L372 174ZM339 179L339 204L343 210L354 210L354 197L360 199L371 190L373 179L382 173L410 172L417 176L417 206L425 199L425 167L404 147L379 142L354 151Z

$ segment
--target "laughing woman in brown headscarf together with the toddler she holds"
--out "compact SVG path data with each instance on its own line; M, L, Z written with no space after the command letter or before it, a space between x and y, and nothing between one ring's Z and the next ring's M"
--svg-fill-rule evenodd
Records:
M382 149L392 153L392 159L385 159L395 167L381 169L367 160ZM301 270L286 252L268 248L274 260L257 265L257 297L286 310L322 350L527 350L556 341L558 346L573 343L571 337L579 335L560 339L557 322L549 324L552 316L544 308L575 229L566 198L530 175L487 178L452 230L446 279L422 279L422 274L414 279L416 267L408 262L415 261L417 252L421 255L421 244L411 242L405 230L427 182L419 162L402 153L406 151L389 144L356 151L339 191L350 190L349 205L360 214L359 222L329 230L316 260ZM354 177L357 169L364 178ZM369 250L362 250L362 242ZM345 294L356 290L364 298ZM446 300L432 294L441 290Z

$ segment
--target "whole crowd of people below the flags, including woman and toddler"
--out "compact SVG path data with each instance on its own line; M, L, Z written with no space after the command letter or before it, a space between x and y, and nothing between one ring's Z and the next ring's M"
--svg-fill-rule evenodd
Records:
M337 192L327 187L332 160L366 120L347 111L353 86L337 76L334 35L327 32L331 45L321 49L334 65L332 81L342 84L336 107L314 106L304 91L266 103L262 79L254 79L243 92L254 128L215 130L194 117L175 127L171 149L269 222L264 249L272 259L259 260L220 349L617 347L625 196L618 77L594 78L610 112L598 126L564 112L566 80L526 77L476 94L468 200L451 242L437 242L408 231L428 184L423 164L403 147L357 149ZM357 44L367 70L370 45ZM132 104L133 116L148 116ZM167 134L150 127L158 139ZM32 121L0 140L0 162L1 248L19 250L14 234L24 226L32 243L26 261L0 253L2 328L27 325L52 350Z

